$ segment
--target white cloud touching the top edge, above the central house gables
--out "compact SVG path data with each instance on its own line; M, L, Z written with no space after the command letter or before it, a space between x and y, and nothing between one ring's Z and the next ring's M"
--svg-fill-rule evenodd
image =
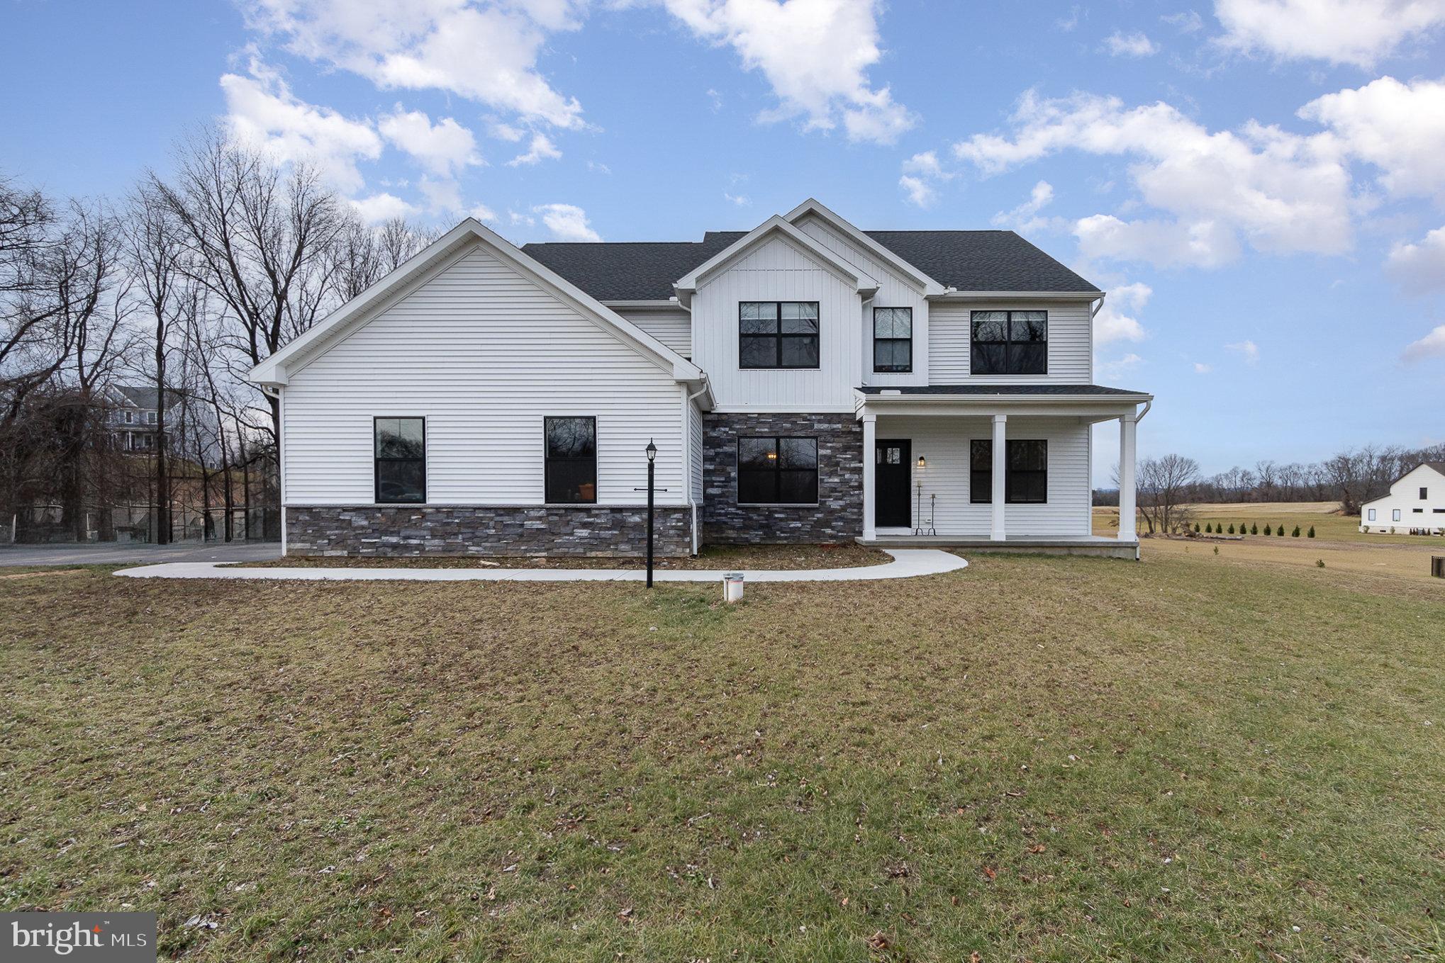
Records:
M727 43L777 97L763 120L803 117L806 130L890 144L913 126L892 91L874 87L881 59L876 0L663 0L694 35ZM715 101L717 103L717 101Z

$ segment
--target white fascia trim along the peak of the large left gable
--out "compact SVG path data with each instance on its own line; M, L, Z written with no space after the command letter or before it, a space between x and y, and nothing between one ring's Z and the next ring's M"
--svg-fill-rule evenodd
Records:
M423 276L428 270L455 254L471 240L486 244L493 254L507 261L519 271L532 276L564 302L569 302L582 316L591 318L603 326L613 328L630 341L636 348L649 357L657 367L669 371L679 381L696 380L702 371L691 361L668 348L660 341L637 328L630 321L607 308L591 295L545 267L532 256L523 253L509 240L481 224L475 218L467 218L451 231L436 238L413 254L405 264L383 277L380 282L366 289L325 319L312 325L309 331L292 341L289 345L273 354L266 361L250 370L247 378L263 385L285 385L286 368L303 362L314 351L324 349L327 342L350 329L357 321L367 318L371 310L384 303L390 295L405 289L409 283Z

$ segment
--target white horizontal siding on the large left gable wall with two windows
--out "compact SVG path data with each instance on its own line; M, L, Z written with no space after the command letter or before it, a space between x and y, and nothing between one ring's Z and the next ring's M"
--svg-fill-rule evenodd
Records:
M597 504L685 504L669 371L473 245L318 354L286 385L288 505L370 505L373 417L426 419L426 502L543 504L542 419L597 417Z

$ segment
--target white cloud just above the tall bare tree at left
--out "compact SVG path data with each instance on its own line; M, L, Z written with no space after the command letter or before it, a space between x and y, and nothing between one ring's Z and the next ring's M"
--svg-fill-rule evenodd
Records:
M357 162L381 156L381 139L371 124L298 100L280 75L256 58L247 74L221 75L231 134L267 150L282 163L306 160L316 165L345 193L360 191L364 179Z

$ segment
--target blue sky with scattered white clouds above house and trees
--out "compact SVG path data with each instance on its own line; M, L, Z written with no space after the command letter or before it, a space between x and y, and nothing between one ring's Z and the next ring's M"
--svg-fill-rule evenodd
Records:
M118 196L221 120L516 243L1013 227L1113 292L1144 453L1445 440L1445 0L402 6L10 0L0 169Z

